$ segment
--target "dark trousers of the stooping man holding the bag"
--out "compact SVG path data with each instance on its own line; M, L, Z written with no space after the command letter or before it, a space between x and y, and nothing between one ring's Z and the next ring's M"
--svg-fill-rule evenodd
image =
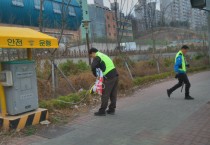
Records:
M110 99L109 110L114 111L116 108L117 102L117 86L118 86L118 77L104 80L104 90L101 96L101 108L99 109L100 112L105 112L108 102Z

